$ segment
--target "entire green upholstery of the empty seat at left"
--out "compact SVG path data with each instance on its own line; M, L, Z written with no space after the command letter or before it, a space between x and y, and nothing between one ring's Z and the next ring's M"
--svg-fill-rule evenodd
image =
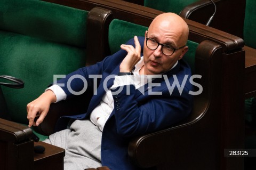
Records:
M25 87L2 87L11 120L27 124L29 102L86 62L87 11L35 0L0 1L0 75Z

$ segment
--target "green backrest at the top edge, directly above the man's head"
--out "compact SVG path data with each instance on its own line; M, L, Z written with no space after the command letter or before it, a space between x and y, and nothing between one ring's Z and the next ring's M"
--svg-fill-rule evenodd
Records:
M198 0L144 0L144 6L164 12L179 14L187 5Z

